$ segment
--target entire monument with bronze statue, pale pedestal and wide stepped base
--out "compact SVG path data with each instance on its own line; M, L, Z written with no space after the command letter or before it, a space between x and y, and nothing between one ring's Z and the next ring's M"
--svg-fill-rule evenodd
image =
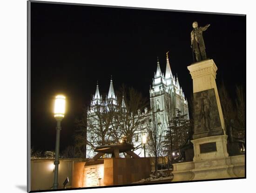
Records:
M188 67L194 93L194 158L191 162L173 164L172 181L244 177L244 155L229 156L227 151L228 136L215 81L217 67L213 60L206 59L204 30L194 24L191 47L198 62Z

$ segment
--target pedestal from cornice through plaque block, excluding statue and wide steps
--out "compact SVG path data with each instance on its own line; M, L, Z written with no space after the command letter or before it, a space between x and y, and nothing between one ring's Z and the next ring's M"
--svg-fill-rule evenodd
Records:
M217 67L204 60L188 67L194 93L194 161L228 157L227 135L216 86Z

